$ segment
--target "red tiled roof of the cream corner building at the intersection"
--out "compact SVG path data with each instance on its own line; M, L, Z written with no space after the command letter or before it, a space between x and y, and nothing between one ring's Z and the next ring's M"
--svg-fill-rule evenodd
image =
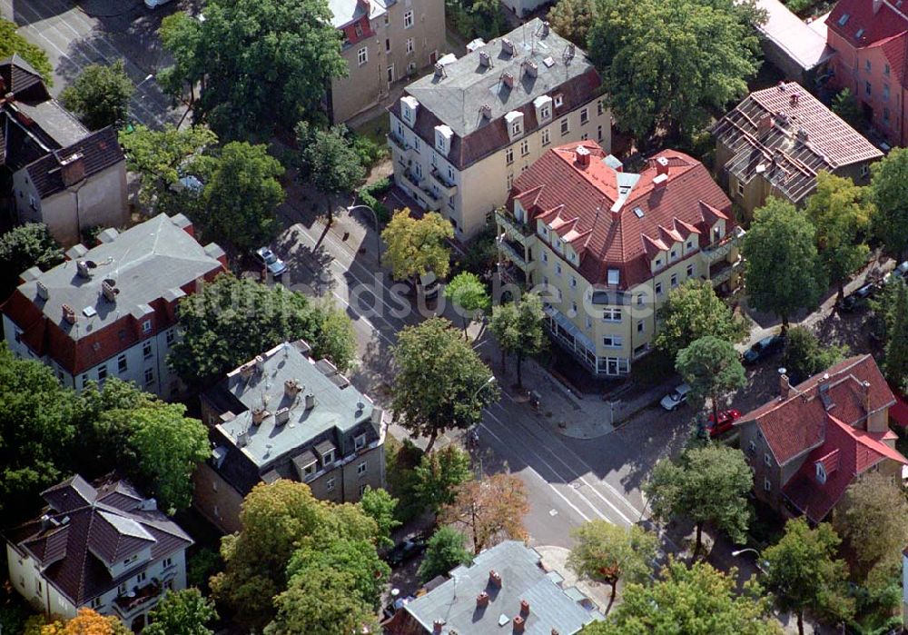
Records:
M577 164L581 146L589 151L586 167ZM519 199L530 221L541 218L562 239L575 241L577 269L590 283L607 283L607 270L617 269L618 286L626 289L652 277L656 251L670 249L672 242L700 233L700 246L705 246L719 219L726 219L725 235L733 231L734 223L727 220L731 201L703 164L674 150L649 160L627 201L613 213L619 173L603 162L605 156L591 141L553 148L518 177L508 201L513 209L513 199ZM660 158L667 160L663 185L654 184Z

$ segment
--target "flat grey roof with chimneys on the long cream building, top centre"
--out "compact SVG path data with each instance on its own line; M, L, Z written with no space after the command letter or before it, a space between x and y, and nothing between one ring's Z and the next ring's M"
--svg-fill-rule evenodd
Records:
M505 35L514 45L515 55L505 53L502 38L498 38L446 64L444 76L429 74L408 85L406 91L416 97L420 108L429 109L455 134L467 136L489 122L479 113L482 105L491 106L490 121L495 121L593 69L579 48L568 59L570 43L554 30L549 29L548 35L542 33L543 23L535 18ZM489 54L491 67L479 63L480 52ZM536 78L521 72L528 61L538 66ZM516 79L513 88L502 83L505 73Z

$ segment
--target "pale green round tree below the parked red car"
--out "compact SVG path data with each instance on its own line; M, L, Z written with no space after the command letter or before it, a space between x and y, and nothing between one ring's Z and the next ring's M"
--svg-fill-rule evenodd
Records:
M744 540L750 521L747 493L753 486L754 475L740 450L709 444L684 451L677 461L658 461L644 491L657 520L682 516L694 521L696 553L707 522L735 541Z

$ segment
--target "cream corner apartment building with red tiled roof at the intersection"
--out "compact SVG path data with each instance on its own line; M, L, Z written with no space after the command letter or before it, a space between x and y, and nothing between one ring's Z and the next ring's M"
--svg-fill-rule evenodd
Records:
M732 203L703 164L665 150L640 174L593 142L548 150L496 213L506 276L541 290L548 331L587 371L630 372L656 310L687 280L740 277Z

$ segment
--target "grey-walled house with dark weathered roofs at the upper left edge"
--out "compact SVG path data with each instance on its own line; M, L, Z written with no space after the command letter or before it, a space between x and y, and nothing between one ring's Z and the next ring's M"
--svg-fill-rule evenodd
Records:
M45 223L64 246L94 227L123 227L126 159L113 126L89 132L13 55L0 61L0 213Z

